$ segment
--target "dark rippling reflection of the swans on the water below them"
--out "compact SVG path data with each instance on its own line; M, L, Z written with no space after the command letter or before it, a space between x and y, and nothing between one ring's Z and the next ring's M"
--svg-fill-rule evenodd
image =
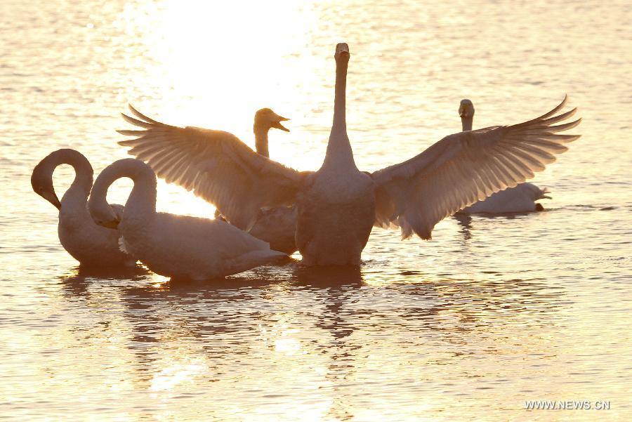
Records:
M118 338L120 358L132 362L126 366L133 368L133 388L173 394L197 383L230 402L272 394L265 393L270 381L294 382L293 388L316 388L310 394L330 401L332 417L348 418L355 401L348 385L388 379L402 359L421 370L481 350L501 353L496 336L508 324L556 323L564 289L545 279L493 278L289 263L206 284L165 279L143 286L154 276L138 274L62 282L67 298L83 296L86 311L103 312L104 324L82 336ZM525 336L518 329L515 341L528 343Z

